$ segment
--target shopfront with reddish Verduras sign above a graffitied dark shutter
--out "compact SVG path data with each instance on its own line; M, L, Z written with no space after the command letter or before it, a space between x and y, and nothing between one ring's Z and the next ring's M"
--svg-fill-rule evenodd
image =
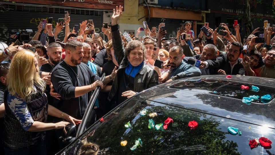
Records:
M103 16L105 12L113 12L117 5L124 6L124 0L13 0L11 2L1 2L0 9L0 41L9 38L10 30L32 29L34 36L37 26L42 19L53 18L53 28L58 22L58 18L64 18L64 11L70 13L70 29L74 25L79 25L84 20L93 20L96 33L101 32ZM110 18L106 17L105 18ZM110 24L110 22L108 23ZM58 38L63 40L64 30L58 34Z

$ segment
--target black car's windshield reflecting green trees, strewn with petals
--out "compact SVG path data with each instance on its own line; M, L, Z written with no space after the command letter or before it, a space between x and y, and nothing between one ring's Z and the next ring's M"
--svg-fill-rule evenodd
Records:
M143 109L146 113L141 113ZM150 117L150 113L157 116ZM168 117L173 123L168 124L166 130L156 130L153 126L149 129L150 119L158 125ZM197 128L190 129L189 121L196 121ZM242 135L229 134L228 127L238 128ZM251 150L248 145L250 140L260 137L274 142L274 129L133 97L106 115L103 121L97 121L64 153L266 154L261 146ZM123 141L124 144L127 141L125 146L121 145ZM136 149L131 150L136 141ZM269 150L275 153L274 148Z

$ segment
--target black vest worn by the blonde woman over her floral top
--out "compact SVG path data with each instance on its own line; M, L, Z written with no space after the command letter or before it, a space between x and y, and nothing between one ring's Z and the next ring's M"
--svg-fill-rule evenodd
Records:
M20 122L17 120L9 106L7 105L8 90L5 90L5 131L4 131L4 146L13 149L25 149L34 146L37 142L44 140L45 131L25 131ZM28 110L34 121L46 123L48 116L48 99L46 94L38 89L38 93L32 96L27 102Z

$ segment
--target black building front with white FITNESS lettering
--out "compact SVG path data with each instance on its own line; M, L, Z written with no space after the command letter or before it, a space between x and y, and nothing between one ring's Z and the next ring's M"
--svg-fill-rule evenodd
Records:
M255 1L251 0L250 3L250 15L253 28L262 28L264 21L267 20L272 26L274 23L274 13L272 12L273 0ZM209 0L207 3L207 9L210 9L210 13L206 15L206 22L209 23L209 27L217 28L220 23L228 23L230 31L235 34L233 24L234 20L238 20L238 24L241 28L241 38L245 38L245 25L242 19L245 0ZM259 37L264 32L256 33Z

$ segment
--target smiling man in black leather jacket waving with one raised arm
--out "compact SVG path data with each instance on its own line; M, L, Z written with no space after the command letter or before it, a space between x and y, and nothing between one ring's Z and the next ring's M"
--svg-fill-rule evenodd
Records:
M118 20L122 14L123 7L114 9L112 15L112 41L115 57L119 64L108 99L115 102L116 106L141 92L159 84L158 73L144 63L145 47L142 42L133 40L124 49L119 33Z

